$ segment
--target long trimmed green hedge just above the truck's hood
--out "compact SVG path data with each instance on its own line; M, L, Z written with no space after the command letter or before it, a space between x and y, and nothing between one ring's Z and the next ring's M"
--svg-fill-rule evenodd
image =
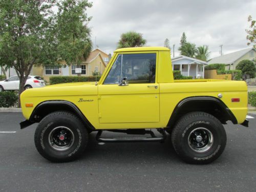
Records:
M68 82L93 82L100 79L100 76L53 76L50 77L50 84L68 83Z

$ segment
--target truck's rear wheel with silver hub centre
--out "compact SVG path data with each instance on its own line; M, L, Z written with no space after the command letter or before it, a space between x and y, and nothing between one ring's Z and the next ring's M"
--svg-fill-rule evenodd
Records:
M177 154L187 163L206 164L216 160L226 146L222 123L204 112L181 117L172 131L172 143Z

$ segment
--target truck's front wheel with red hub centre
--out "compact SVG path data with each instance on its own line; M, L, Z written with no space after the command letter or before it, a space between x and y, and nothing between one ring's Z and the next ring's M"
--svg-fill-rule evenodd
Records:
M58 111L39 122L34 140L43 157L53 162L67 162L83 154L88 143L88 131L74 114Z

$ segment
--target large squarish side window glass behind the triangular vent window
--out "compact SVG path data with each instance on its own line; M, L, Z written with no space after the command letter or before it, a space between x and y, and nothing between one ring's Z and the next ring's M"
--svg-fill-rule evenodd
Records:
M156 53L123 54L122 77L132 83L155 83Z

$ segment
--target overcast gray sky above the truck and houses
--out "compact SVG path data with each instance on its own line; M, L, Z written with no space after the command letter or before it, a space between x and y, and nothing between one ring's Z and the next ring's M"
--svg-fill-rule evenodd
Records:
M248 48L245 29L248 15L256 19L255 0L94 0L87 13L92 16L92 40L106 53L113 54L122 33L136 31L146 46L163 46L165 38L175 56L180 37L197 46L208 45L210 58ZM173 52L173 51L172 51Z

